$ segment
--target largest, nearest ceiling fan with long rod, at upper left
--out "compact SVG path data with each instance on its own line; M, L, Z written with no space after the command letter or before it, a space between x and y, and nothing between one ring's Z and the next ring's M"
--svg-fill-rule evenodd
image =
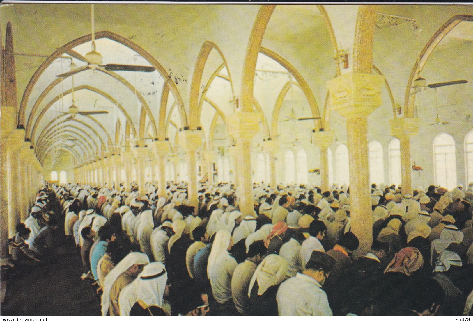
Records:
M70 75L74 75L76 73L79 73L83 70L87 69L96 69L96 68L105 68L105 70L110 70L110 71L133 71L133 72L152 72L156 68L152 66L140 66L140 65L122 65L122 64L106 64L102 65L102 55L96 51L96 46L95 46L95 20L94 20L94 5L92 4L92 14L91 14L91 22L92 22L92 48L91 51L89 51L85 56L82 56L79 54L77 51L73 51L72 49L69 48L58 48L65 53L69 54L70 56L79 59L80 61L84 61L87 63L86 66L79 67L79 68L72 68L69 72L63 73L60 75L57 75L57 77L68 77ZM71 67L74 65L71 64Z

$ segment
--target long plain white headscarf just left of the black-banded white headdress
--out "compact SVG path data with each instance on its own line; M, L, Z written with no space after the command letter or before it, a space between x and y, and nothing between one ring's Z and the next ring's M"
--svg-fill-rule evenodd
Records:
M107 276L105 276L105 285L104 285L104 293L102 294L102 316L106 316L108 309L110 307L110 291L112 290L112 286L115 283L115 280L128 270L134 264L148 264L149 258L146 254L139 253L139 252L132 252L123 258L113 269L110 271Z

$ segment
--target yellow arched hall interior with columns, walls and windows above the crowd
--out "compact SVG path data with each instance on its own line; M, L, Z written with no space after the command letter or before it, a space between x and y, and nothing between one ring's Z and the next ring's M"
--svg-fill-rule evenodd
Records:
M232 182L244 214L254 182L350 185L363 249L371 183L473 181L470 5L96 4L96 65L90 4L0 14L2 256L44 180Z

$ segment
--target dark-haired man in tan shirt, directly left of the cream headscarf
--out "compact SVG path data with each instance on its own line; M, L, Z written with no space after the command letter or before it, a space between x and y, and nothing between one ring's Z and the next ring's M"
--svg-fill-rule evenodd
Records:
M232 298L236 310L243 316L251 316L251 302L248 297L248 288L256 267L264 258L267 249L263 240L253 242L243 263L236 266L232 276Z

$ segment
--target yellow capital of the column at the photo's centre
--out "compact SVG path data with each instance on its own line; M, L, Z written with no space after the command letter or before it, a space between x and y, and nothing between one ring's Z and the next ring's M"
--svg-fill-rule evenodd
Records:
M228 134L237 139L252 139L259 131L263 115L258 112L236 112L227 117Z

